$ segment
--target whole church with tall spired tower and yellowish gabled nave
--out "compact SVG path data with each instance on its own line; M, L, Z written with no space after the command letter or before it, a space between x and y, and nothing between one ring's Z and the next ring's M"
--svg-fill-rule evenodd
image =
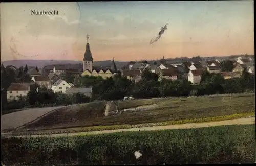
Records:
M112 66L94 66L88 39L89 35L87 35L86 52L84 53L83 72L81 73L81 76L101 76L103 79L113 77L115 74L118 73L114 58Z

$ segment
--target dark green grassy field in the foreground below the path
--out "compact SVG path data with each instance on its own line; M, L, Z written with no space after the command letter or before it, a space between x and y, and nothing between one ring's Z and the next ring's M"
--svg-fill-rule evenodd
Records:
M255 162L255 125L73 137L2 138L6 165ZM142 156L136 159L134 153Z

